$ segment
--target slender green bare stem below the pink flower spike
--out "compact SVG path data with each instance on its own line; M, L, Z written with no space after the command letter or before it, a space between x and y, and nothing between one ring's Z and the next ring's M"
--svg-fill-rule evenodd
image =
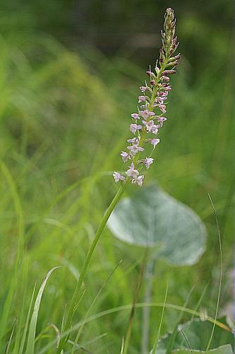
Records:
M102 222L100 223L100 227L97 229L97 232L95 234L95 237L92 241L92 244L90 245L90 249L85 257L85 261L83 263L83 268L80 271L80 275L79 275L79 279L76 285L76 290L73 293L73 297L71 300L71 305L69 307L68 310L68 317L66 320L66 324L64 327L64 330L68 330L71 327L72 324L72 319L73 319L73 314L74 314L74 308L76 307L76 304L78 302L78 299L80 297L80 290L81 287L83 285L83 280L85 278L85 273L88 270L88 265L90 263L90 259L92 258L92 254L95 251L95 247L97 246L98 241L100 240L100 236L102 235L102 232L104 230L104 227L107 224L107 221L112 213L112 211L114 210L114 207L116 206L117 202L119 202L119 200L121 199L121 196L124 193L124 190L126 189L126 185L128 183L128 178L126 179L126 183L123 185L121 185L121 187L119 188L119 190L117 191L116 195L114 196L114 199L112 200L112 202L110 203L108 209L106 210L106 212L104 213L104 217L102 219ZM64 345L66 343L66 341L68 341L68 337L64 338L63 341L61 341L59 343L59 348L57 349L57 353L61 353L61 350L64 348Z

